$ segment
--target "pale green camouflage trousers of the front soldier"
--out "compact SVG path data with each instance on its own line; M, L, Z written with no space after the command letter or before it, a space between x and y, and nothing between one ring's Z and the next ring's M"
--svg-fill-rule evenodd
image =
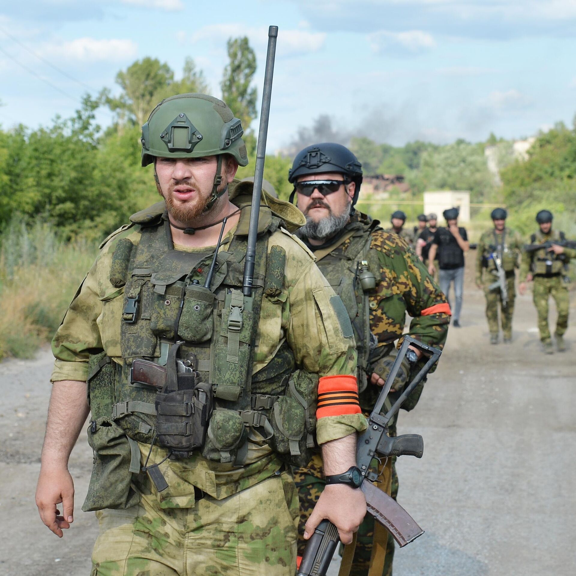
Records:
M96 513L92 576L294 576L298 495L283 472L192 508L160 508L141 495L126 510Z

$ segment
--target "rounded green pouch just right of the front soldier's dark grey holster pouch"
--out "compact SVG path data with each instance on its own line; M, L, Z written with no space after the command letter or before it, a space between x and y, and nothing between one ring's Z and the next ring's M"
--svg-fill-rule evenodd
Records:
M216 462L232 463L238 446L247 438L248 430L240 413L218 408L210 418L208 438L202 456Z

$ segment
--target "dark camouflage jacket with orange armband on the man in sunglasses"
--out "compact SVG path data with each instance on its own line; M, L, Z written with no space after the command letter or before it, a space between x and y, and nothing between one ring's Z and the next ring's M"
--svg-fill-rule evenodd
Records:
M366 214L355 211L346 230L352 232L354 229L361 229L366 240L370 238L370 252L375 253L379 266L378 270L374 270L376 288L370 291L368 298L370 332L377 339L370 361L389 354L396 340L400 347L406 313L412 316L408 329L410 336L442 348L450 322L448 301L418 256L398 234L374 226L372 218ZM340 260L347 259L352 237L350 234L346 236L344 233L346 240L340 240L334 247L314 252L321 270L323 259L328 255L336 255ZM337 262L336 259L332 260ZM348 266L347 273L354 275L354 269L354 266ZM332 287L338 290L338 286ZM377 386L368 384L361 393L363 410L372 408L379 392Z

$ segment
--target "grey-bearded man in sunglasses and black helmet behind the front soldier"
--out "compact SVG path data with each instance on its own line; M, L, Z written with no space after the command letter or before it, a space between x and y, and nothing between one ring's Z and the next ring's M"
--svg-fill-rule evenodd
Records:
M298 236L313 251L321 272L340 295L350 318L358 350L360 403L365 413L372 411L380 386L388 375L401 343L406 312L412 316L411 336L442 347L446 339L450 309L444 294L406 242L385 232L379 222L354 210L362 183L362 168L344 146L322 143L306 147L294 158L289 181L294 185L297 205L306 216ZM392 393L397 397L422 361L417 351L408 351ZM416 389L404 408L410 410L422 388ZM391 434L395 435L395 426ZM383 473L383 489L395 496L397 480L391 486L392 469ZM306 520L324 489L326 467L319 454L295 471L301 505L300 535L308 530ZM388 481L388 486L386 486ZM306 527L305 527L306 526ZM354 575L367 574L374 536L374 518L369 514L358 532ZM383 532L383 533L382 533ZM376 525L376 537L388 538ZM298 553L305 541L298 542ZM381 573L390 574L394 544L388 538L388 552L379 556ZM376 569L373 566L373 569Z

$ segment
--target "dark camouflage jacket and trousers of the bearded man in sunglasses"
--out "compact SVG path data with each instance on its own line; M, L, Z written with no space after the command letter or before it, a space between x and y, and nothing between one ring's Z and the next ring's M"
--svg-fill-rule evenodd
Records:
M369 380L372 374L370 363L389 354L393 350L396 340L403 334L407 312L412 316L408 334L422 342L440 348L446 340L450 321L449 306L445 295L430 278L418 256L397 234L385 232L377 225L378 222L373 221L369 216L355 211L344 229L343 236L331 247L314 252L314 256L317 257L317 265L327 276L335 291L342 295L344 305L347 305L348 312L350 312L354 302L350 304L350 297L347 296L346 290L347 287L351 286L357 273L357 260L363 259L361 254L350 255L350 247L351 245L358 247L359 244L369 247L367 251L369 270L376 276L376 289L371 290L368 297L369 327L372 334L377 338L377 345L375 349L370 351L369 363L366 366L367 376L364 376L365 382ZM334 267L334 274L331 273L331 267ZM344 271L340 272L340 270ZM341 274L344 274L342 279L340 279ZM356 293L359 293L358 298L360 298L362 290L357 287ZM354 314L351 315L354 316ZM358 342L358 331L361 329L361 323L357 323L355 320L359 319L353 318L353 327L360 357L362 344ZM397 344L400 346L401 340ZM358 363L359 366L362 364L360 358ZM361 381L362 374L360 373L359 382ZM360 404L362 410L366 415L369 415L381 388L367 383L366 388L362 391L363 385L359 384L359 386L361 388ZM415 406L421 391L421 389L415 391L415 397L408 399L409 408ZM391 436L396 435L395 423L390 427L389 433ZM392 460L395 461L395 458ZM302 539L304 525L325 486L320 455L314 456L306 467L296 468L294 479L300 497L298 555L302 555L305 548L305 541ZM398 479L393 468L391 493L394 498L396 498L397 491ZM351 574L354 576L365 576L368 573L373 532L374 518L370 514L366 514L357 533L357 547L351 569ZM384 574L392 573L393 551L394 540L392 536L389 536Z

